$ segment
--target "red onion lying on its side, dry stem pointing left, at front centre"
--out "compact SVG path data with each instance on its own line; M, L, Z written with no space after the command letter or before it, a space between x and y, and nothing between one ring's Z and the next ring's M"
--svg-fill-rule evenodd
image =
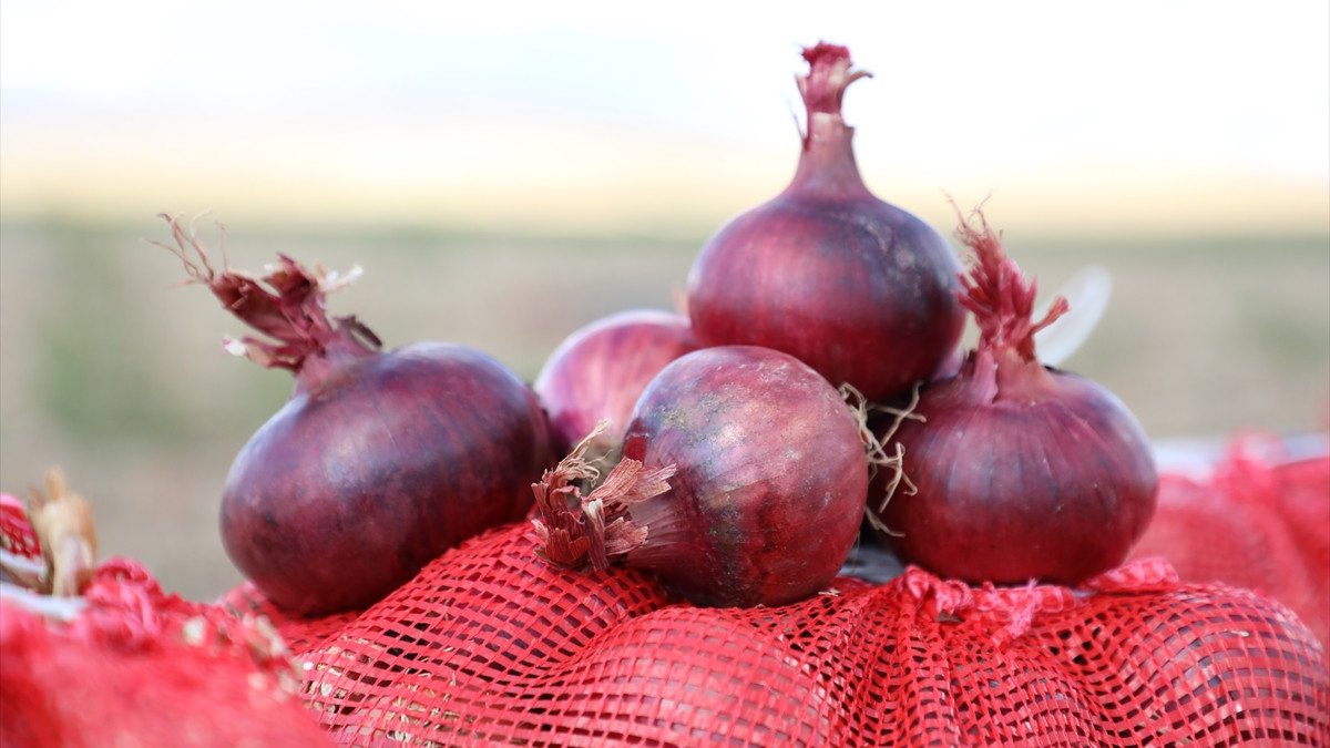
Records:
M859 423L835 387L781 351L710 347L666 366L637 402L622 461L587 496L584 450L535 487L544 556L597 568L621 559L698 604L818 592L863 520Z

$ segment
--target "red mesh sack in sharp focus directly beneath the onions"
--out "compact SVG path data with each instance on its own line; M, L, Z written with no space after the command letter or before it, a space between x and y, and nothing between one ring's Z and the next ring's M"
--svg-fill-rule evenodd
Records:
M1138 562L1063 587L916 568L806 602L698 608L630 571L483 535L358 616L283 618L344 744L1148 745L1330 741L1325 651L1250 591Z

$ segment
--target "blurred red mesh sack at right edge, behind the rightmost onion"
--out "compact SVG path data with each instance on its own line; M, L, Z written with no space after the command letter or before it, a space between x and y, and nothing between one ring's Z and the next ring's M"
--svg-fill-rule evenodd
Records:
M1330 454L1291 458L1283 441L1234 439L1204 475L1160 476L1134 558L1169 559L1189 582L1264 592L1330 646Z

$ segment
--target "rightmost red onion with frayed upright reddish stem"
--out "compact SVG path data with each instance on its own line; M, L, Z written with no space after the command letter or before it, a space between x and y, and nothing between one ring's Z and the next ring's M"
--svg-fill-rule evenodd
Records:
M1121 563L1145 531L1153 457L1112 393L1036 358L1035 333L1067 302L1036 322L1035 282L979 220L959 229L976 256L960 298L978 346L883 435L900 457L902 490L892 496L898 475L879 472L868 519L902 560L943 576L1075 584Z

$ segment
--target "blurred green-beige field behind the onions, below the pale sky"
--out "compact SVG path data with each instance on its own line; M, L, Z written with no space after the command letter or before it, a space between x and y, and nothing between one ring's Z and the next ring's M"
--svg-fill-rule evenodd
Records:
M217 241L211 224L201 233ZM93 498L102 555L138 558L168 588L210 598L238 580L217 538L235 451L286 399L290 379L227 357L239 333L180 264L145 237L166 226L0 222L0 487L23 494L51 465ZM1330 238L1229 237L1008 248L1051 290L1087 264L1115 295L1068 362L1121 397L1158 439L1330 421ZM366 276L332 299L390 346L480 347L535 377L579 325L674 303L704 236L540 238L427 229L235 226L230 262L277 252Z

